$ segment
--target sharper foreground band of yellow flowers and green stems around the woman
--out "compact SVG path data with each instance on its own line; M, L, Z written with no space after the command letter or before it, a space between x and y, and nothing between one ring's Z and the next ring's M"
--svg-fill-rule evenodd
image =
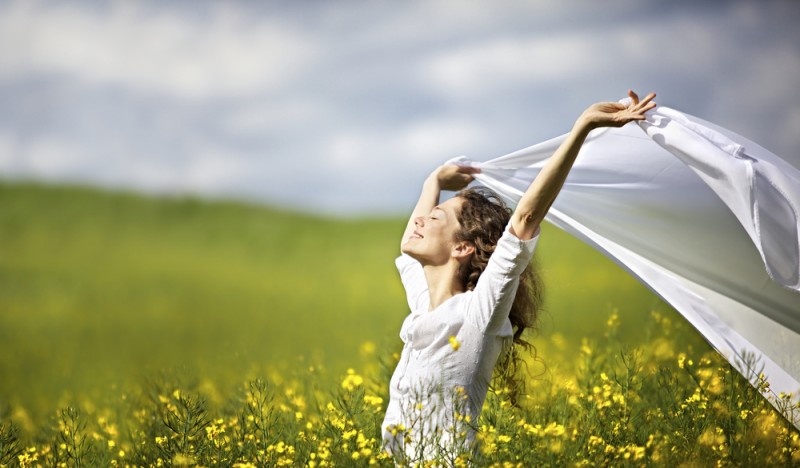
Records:
M603 339L568 350L541 341L519 407L494 388L475 426L480 445L456 466L791 466L798 432L714 352L673 345L684 325L655 313L651 346ZM78 400L21 436L0 428L0 464L20 466L392 466L381 447L388 372L397 355L363 343L362 367L273 368L220 396L166 373L109 401ZM457 351L456 351L457 352ZM538 366L538 367L537 367ZM412 428L400 428L410 429ZM425 460L405 460L409 465Z

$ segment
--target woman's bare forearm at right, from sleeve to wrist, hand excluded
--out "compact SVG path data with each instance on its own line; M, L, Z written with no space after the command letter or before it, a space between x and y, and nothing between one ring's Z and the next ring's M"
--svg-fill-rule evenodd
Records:
M520 198L511 221L514 233L520 239L530 239L536 233L564 186L591 128L583 119L578 119L567 138Z

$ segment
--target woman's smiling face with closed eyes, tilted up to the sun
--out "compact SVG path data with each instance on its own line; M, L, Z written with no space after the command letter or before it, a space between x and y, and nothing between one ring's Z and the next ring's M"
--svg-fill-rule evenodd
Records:
M458 213L464 199L453 197L437 205L428 216L414 220L416 228L405 240L402 252L423 265L443 265L451 258L455 234L461 229Z

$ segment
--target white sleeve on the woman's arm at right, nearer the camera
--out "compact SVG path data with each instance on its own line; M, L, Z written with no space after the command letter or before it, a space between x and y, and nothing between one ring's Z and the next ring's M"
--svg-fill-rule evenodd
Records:
M532 239L521 240L511 233L510 226L510 223L506 226L486 269L478 278L467 309L467 320L486 334L503 332L517 293L519 276L530 263L541 232Z

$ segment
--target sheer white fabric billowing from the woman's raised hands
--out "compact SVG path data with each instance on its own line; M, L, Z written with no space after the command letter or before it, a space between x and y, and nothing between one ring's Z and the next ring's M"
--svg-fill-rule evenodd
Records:
M477 181L514 204L563 140L451 162L480 167ZM593 131L546 219L661 296L751 383L763 373L765 396L800 428L787 408L800 401L798 213L798 169L660 106Z

